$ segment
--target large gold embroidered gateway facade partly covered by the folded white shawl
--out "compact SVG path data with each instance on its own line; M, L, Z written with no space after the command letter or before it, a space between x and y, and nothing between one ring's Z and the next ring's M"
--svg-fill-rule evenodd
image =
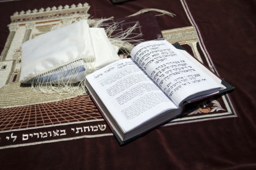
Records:
M80 19L88 19L87 14L90 6L88 3L82 5L59 6L58 8L40 8L40 10L28 10L26 12L15 12L11 16L11 23L8 25L10 34L5 48L0 56L0 108L20 107L24 105L48 103L68 99L71 95L35 94L30 84L19 83L21 54L20 45L22 42L52 31L56 28L77 22ZM80 88L78 95L85 91Z

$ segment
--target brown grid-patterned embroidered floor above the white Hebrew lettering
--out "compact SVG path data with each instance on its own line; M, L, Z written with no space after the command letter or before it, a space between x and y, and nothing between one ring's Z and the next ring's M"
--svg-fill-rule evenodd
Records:
M14 102L16 101L14 100ZM72 107L69 107L71 105ZM0 131L97 120L99 118L102 118L101 114L93 102L89 100L88 95L84 94L67 101L58 101L58 103L1 109Z

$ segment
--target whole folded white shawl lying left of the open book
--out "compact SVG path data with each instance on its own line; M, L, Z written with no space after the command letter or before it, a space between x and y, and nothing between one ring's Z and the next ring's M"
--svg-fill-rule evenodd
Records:
M61 78L76 83L88 69L98 70L118 59L104 28L89 28L87 20L80 20L22 44L19 82L36 78L40 83L56 83Z

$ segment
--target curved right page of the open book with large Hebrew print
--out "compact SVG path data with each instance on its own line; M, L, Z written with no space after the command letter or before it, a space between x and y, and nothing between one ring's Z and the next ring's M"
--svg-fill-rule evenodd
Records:
M131 57L176 105L222 88L220 83L166 40L143 42L135 46Z

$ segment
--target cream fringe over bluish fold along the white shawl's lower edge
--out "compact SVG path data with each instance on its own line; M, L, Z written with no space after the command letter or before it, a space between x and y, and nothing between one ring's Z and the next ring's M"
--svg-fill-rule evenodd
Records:
M85 75L94 71L95 58L84 58L72 62L68 65L61 66L55 70L48 71L31 79L32 91L44 95L59 94L61 95L81 95L86 92L85 89ZM81 73L85 71L85 73ZM77 76L81 73L83 75L79 83Z

